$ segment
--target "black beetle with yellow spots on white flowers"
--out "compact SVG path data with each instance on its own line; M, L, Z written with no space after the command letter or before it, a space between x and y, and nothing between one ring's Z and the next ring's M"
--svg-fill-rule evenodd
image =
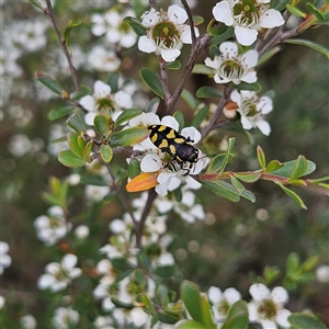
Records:
M185 138L173 128L164 125L150 125L147 128L149 129L151 143L162 152L167 152L172 157L172 160L166 167L172 161L177 161L180 169L183 169L184 163L190 162L189 169L183 169L186 170L184 175L188 175L193 164L198 160L198 149L191 144L194 140L190 137Z

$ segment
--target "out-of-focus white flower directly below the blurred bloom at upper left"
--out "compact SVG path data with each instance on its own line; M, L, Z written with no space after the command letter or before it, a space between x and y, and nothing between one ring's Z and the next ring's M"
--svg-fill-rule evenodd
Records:
M121 60L115 52L106 49L103 46L95 46L90 50L88 63L93 69L105 72L113 72L121 65Z

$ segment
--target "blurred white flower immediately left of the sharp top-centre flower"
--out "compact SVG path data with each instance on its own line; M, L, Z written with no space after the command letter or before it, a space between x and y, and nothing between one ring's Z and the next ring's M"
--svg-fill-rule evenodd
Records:
M126 9L123 13L118 13L116 9L109 10L104 14L94 13L91 15L93 23L91 32L98 36L105 34L106 39L112 44L118 43L123 47L132 47L137 36L123 22L126 16L135 16L135 13L129 9Z

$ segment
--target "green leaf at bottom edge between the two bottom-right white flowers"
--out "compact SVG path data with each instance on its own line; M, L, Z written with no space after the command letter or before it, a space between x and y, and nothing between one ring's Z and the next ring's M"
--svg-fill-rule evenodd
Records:
M222 329L246 329L249 325L248 308L245 300L238 300L228 309Z

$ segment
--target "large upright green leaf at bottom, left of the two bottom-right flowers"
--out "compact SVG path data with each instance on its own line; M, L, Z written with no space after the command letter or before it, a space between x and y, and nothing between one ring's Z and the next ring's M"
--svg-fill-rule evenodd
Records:
M181 284L181 297L192 319L207 326L206 328L208 329L215 328L211 314L211 305L207 298L201 295L196 284L186 280L183 281Z

